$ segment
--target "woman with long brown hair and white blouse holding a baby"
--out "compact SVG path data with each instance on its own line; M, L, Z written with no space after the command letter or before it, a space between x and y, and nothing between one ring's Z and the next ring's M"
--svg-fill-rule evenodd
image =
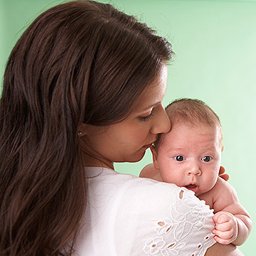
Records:
M145 24L94 1L56 6L23 33L0 106L1 255L241 255L213 245L195 196L113 171L169 131L171 55Z

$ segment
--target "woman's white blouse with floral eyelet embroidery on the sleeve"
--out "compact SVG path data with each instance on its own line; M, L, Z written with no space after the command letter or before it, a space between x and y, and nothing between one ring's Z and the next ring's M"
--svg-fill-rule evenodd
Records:
M74 255L200 256L213 210L174 184L88 167L87 208Z

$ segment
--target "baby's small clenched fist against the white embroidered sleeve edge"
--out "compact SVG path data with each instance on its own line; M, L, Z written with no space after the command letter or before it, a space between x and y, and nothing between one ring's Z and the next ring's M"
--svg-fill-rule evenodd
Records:
M215 240L228 245L238 238L238 221L232 213L220 211L213 216Z

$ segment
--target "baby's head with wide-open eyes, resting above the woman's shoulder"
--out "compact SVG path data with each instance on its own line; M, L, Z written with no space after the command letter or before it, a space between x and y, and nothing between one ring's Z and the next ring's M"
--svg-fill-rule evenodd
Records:
M203 101L180 99L166 107L171 130L151 149L154 166L165 182L196 193L215 185L223 151L220 119Z

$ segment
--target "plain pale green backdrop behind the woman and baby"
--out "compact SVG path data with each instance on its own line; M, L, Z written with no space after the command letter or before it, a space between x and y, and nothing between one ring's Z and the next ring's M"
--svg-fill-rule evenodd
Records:
M104 0L103 0L104 1ZM53 0L0 0L0 72L24 28ZM172 1L112 0L171 42L176 56L169 65L164 105L177 97L204 100L223 124L222 164L240 202L256 220L256 0ZM117 171L138 175L151 162L149 151L135 164L115 164ZM225 200L225 198L223 198ZM255 255L255 230L240 250Z

